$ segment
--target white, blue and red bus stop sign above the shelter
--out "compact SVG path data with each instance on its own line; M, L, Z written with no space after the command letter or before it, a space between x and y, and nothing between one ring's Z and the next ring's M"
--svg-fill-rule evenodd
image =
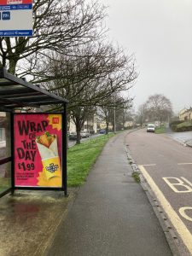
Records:
M32 36L32 0L0 0L0 37Z

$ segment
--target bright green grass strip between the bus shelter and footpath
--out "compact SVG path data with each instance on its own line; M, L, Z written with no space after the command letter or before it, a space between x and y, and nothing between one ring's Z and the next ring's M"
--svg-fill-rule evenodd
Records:
M102 152L105 143L114 134L94 137L84 143L75 145L67 151L67 185L77 187L86 180L91 166L96 162L96 158Z

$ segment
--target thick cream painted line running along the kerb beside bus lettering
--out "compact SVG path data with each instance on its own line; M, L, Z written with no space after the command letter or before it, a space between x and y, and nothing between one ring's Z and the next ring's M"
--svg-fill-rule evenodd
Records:
M163 207L167 216L170 218L172 225L177 230L177 233L179 234L179 236L181 236L183 243L189 249L189 252L192 253L191 233L189 232L185 224L183 224L183 221L181 220L181 218L179 218L179 216L177 215L177 212L173 210L169 201L166 200L166 197L160 191L156 183L154 183L153 178L149 176L145 168L143 166L139 166L139 169L143 173L143 176L145 177L145 179L148 181L148 184L151 187L151 189L153 189L154 194L156 195L157 199L160 201L161 206Z

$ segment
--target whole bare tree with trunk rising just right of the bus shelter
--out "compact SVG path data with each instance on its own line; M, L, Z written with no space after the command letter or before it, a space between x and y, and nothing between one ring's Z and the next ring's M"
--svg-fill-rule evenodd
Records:
M111 44L93 42L73 50L76 55L59 55L49 62L49 89L69 100L80 143L80 130L88 114L96 107L114 105L114 93L129 90L137 79L133 56L125 56Z

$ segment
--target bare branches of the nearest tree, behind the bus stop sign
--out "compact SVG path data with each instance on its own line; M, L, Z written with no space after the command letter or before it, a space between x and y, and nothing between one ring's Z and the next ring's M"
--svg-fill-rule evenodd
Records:
M0 38L0 66L20 76L35 74L33 70L50 50L70 52L74 46L100 37L104 15L104 7L97 2L34 0L34 35Z

